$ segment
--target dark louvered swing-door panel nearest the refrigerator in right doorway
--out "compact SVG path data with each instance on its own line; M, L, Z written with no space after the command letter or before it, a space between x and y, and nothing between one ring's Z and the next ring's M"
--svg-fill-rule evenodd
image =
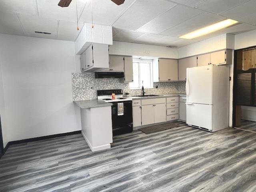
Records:
M237 89L236 89L236 104L237 105L252 105L252 73L237 74Z

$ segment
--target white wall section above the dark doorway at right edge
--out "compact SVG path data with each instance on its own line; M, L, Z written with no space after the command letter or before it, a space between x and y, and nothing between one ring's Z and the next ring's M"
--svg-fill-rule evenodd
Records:
M256 46L256 30L235 36L235 49L242 49L251 46Z

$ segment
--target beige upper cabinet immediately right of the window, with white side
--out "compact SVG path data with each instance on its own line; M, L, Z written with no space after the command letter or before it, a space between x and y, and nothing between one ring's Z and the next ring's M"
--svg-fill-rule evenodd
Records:
M158 59L153 61L153 80L177 81L178 80L178 60Z

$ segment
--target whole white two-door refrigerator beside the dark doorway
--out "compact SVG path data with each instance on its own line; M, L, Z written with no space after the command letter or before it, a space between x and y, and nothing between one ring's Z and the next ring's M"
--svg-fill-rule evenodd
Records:
M210 132L228 127L229 66L187 68L186 123Z

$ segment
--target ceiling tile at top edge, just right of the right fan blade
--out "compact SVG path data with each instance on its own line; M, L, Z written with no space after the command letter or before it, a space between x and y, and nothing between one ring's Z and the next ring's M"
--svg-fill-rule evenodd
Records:
M136 30L175 5L166 0L137 0L113 26Z

